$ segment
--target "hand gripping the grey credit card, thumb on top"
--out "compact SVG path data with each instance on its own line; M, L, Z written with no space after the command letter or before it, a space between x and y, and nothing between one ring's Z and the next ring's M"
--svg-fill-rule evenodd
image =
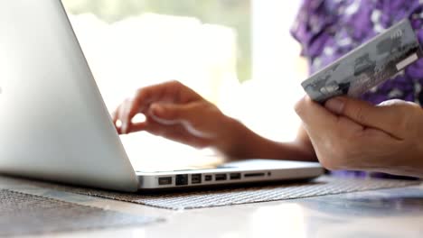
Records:
M325 168L423 178L423 111L419 105L401 100L370 105L336 97L322 106L305 97L296 104L296 113Z

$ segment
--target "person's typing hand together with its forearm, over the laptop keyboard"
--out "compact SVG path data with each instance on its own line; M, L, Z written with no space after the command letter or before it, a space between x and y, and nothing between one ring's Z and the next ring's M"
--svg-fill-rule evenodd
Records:
M132 122L136 114L144 114L146 121ZM118 133L146 131L197 148L211 147L227 160L315 159L308 137L293 143L263 138L177 81L138 89L112 117Z

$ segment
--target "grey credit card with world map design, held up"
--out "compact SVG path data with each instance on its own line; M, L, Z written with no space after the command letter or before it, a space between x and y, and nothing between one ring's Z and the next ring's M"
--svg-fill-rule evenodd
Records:
M409 19L401 20L307 78L301 86L313 100L358 97L423 56Z

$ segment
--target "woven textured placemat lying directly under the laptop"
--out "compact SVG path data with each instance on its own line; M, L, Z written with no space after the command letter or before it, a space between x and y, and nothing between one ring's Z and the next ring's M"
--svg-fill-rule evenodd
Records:
M400 188L418 185L420 183L420 181L393 179L321 177L308 183L285 183L265 187L225 188L148 195L142 193L118 193L92 188L76 188L38 181L30 182L37 187L53 188L71 193L105 197L146 206L155 206L174 210L211 206L231 206L301 197L316 197L381 188Z

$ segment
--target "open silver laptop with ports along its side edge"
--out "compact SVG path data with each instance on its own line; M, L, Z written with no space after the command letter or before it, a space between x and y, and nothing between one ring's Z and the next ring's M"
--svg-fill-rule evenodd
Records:
M306 179L324 172L315 162L287 160L134 169L61 1L2 1L0 34L0 173L135 192Z

